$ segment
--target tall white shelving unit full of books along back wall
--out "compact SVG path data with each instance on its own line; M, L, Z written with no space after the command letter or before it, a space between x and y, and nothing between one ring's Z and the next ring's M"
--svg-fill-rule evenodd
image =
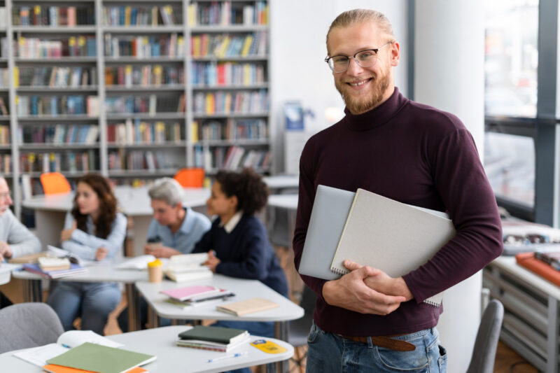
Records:
M29 167L30 157L38 158L48 156L49 161L43 161L50 164L52 154L55 155L55 161L62 162L62 174L67 178L73 179L81 176L86 171L99 171L104 176L116 179L118 182L132 181L135 178L148 179L161 176L172 176L176 169L180 167L204 167L207 174L211 176L214 174L218 166L223 166L225 160L215 157L222 155L225 157L228 149L231 147L238 147L244 150L244 156L248 155L251 150L254 153L261 155L260 160L264 160L266 153L272 153L270 141L271 133L274 131L270 126L271 113L269 112L269 24L268 17L268 1L257 0L230 0L230 1L208 1L208 0L169 0L169 1L153 1L153 0L52 0L52 1L38 1L38 0L0 0L0 6L5 8L7 17L6 27L0 27L0 37L6 38L6 55L0 56L0 69L7 69L8 85L0 87L0 97L4 99L10 115L0 115L0 126L9 126L10 141L9 143L0 143L0 172L2 172L10 181L13 189L13 197L15 200L15 213L20 215L20 201L22 200L20 188L18 185L21 181L22 175L27 174L32 180L35 180L41 175L43 171L43 164L34 163L34 167ZM170 6L171 8L166 8ZM24 8L22 12L22 7ZM80 8L90 8L90 14L93 19L88 24L76 24L74 26L50 26L50 19L55 16L59 17L58 20L64 22L64 17L69 17L64 13L50 13L50 7L69 8L73 7L76 11ZM127 23L127 20L133 20L134 17L141 17L141 12L153 14L153 8L158 14L157 25L116 25L116 23ZM214 7L210 10L211 7ZM29 22L25 20L25 12L28 12ZM207 10L209 11L207 11ZM226 10L225 13L232 15L230 23L208 24L213 15ZM229 11L227 11L229 10ZM120 12L124 12L120 16ZM113 12L113 13L111 13ZM218 12L218 13L216 13ZM165 14L164 14L165 13ZM170 20L172 13L175 23L165 22L164 17ZM113 17L113 22L106 22L104 14L109 14ZM118 14L118 17L114 17ZM259 17L260 14L260 17ZM234 17L235 16L235 17ZM38 22L34 22L34 17ZM122 18L121 18L122 17ZM249 21L251 17L251 21ZM109 16L108 16L109 18ZM234 19L235 18L235 19ZM80 22L79 15L76 17ZM115 22L115 20L117 20ZM124 20L125 22L120 22ZM223 18L225 20L225 18ZM193 22L194 21L194 22ZM29 23L29 24L26 24ZM34 25L38 23L38 25ZM130 22L129 22L130 23ZM166 24L167 23L167 24ZM219 23L219 22L218 22ZM240 23L240 24L239 24ZM64 22L64 24L66 24ZM151 24L151 22L150 22ZM196 56L191 53L191 39L210 38L216 40L223 40L230 38L230 41L236 37L239 40L246 42L248 36L253 36L253 40L259 40L262 43L260 50L258 44L255 47L251 45L242 45L245 52L237 52L237 54L230 55L228 47L223 47L221 52L214 53L197 53ZM83 38L82 38L83 36ZM144 37L144 38L140 38ZM113 40L113 38L118 39ZM151 38L151 41L166 38L166 42L160 46L165 48L170 45L171 40L182 41L183 55L171 54L171 57L137 57L134 53L123 55L122 51L125 50L123 45L130 46L133 43L135 51L138 52L139 48L144 45L146 38ZM34 40L35 39L35 40ZM89 39L89 41L88 41ZM92 40L95 40L95 45L91 45ZM62 48L62 56L59 57L29 57L29 53L22 52L20 49L29 52L34 48L35 43L42 41L67 41L64 42ZM26 44L29 43L29 44ZM88 44L90 43L90 44ZM66 46L67 44L67 46ZM231 43L233 44L233 42ZM264 47L263 47L264 45ZM89 50L87 47L89 46ZM109 47L119 47L119 57L113 57ZM82 48L79 56L69 57L66 48ZM46 48L51 48L50 46ZM179 50L180 45L175 45L175 52ZM232 45L229 45L232 48ZM253 50L253 48L255 48ZM152 48L153 49L153 48ZM242 51L243 48L239 49ZM248 51L251 52L248 52ZM257 53L258 52L258 53ZM169 55L167 55L169 56ZM217 57L216 57L217 56ZM242 83L237 80L210 82L208 77L193 75L193 64L204 64L209 67L209 71L214 69L216 73L218 66L230 63L236 66L246 66L241 74ZM124 66L124 67L123 67ZM125 69L128 76L134 74L134 69L139 71L143 66L150 66L150 74L154 76L162 76L165 79L166 69L174 69L176 76L172 83L158 85L141 85L130 84L127 81L126 85L118 84L118 68ZM230 66L231 67L231 66ZM255 81L255 70L258 67L260 80ZM33 85L29 81L22 81L29 76L24 76L22 79L22 71L29 68L37 73L40 69L51 68L82 68L88 69L88 84L86 86L50 86L52 84L38 85L34 82ZM106 78L106 68L116 71L113 77L113 84ZM162 73L158 75L155 69L162 69ZM220 68L222 69L222 68ZM182 70L182 73L181 73ZM132 71L132 73L131 73ZM169 73L171 70L167 70ZM204 70L205 71L205 70ZM43 73L45 73L43 71ZM206 73L206 72L204 72ZM213 73L212 71L209 74ZM46 74L46 73L45 73ZM71 74L71 71L70 71ZM246 76L249 74L249 76ZM15 76L18 76L16 81ZM183 81L180 80L183 76ZM223 76L221 76L223 78ZM229 78L229 76L228 76ZM32 78L31 78L32 79ZM81 76L80 76L81 80ZM122 80L122 79L121 79ZM196 84L193 81L197 81ZM211 80L211 79L210 79ZM45 80L43 80L44 82ZM52 83L52 82L50 82ZM120 81L122 83L122 81ZM265 103L260 108L255 109L255 105L251 100L249 110L209 110L209 107L204 104L204 110L194 111L195 97L210 97L214 94L215 97L230 97L232 101L236 99L236 94L243 92L260 92L262 97L266 97ZM177 111L179 107L179 100L181 95L185 97L185 111ZM84 105L87 106L87 97L97 97L97 112L89 114L87 110L79 114L62 114L65 111L60 110L62 106L69 105L69 97L83 97ZM140 113L124 113L114 112L109 110L107 99L120 98L120 97L133 97L132 101L139 100L138 97L144 97L146 102L155 97L158 108L165 107L165 110L151 111L142 108ZM29 110L22 110L22 102L25 103L26 97L29 99ZM43 97L44 108L48 112L55 106L55 101L51 97L58 97L60 102L56 105L59 106L59 113L51 115L48 113L41 113L38 109L34 109L36 100L33 97ZM247 95L249 97L249 95ZM246 99L246 98L245 98ZM94 99L92 102L95 104ZM115 100L116 101L116 100ZM35 105L35 106L34 106ZM142 104L144 105L144 104ZM36 106L38 107L38 106ZM244 106L239 106L244 107ZM18 115L21 114L21 115ZM180 139L170 139L169 136L158 143L137 141L134 139L132 143L123 143L113 139L114 134L109 134L113 131L111 126L126 123L127 121L146 122L148 125L156 126L158 122L167 125L174 125L178 122L181 128ZM228 135L225 136L228 121L235 122L239 126L251 124L251 122L260 121L259 134L244 134L242 136ZM222 136L203 136L204 131L195 131L194 122L200 123L199 127L202 130L210 122L216 126L220 124L223 127ZM95 143L83 143L82 141L62 141L62 143L41 143L36 141L31 131L32 128L37 127L50 127L50 131L54 131L55 127L59 126L77 126L90 125L96 126L98 129L97 141ZM232 124L230 124L230 127ZM237 127L239 127L237 126ZM236 127L236 126L234 126ZM236 127L236 128L237 128ZM62 128L62 127L61 127ZM161 129L162 127L158 127ZM0 127L1 129L1 127ZM45 129L46 130L46 129ZM148 130L148 129L147 129ZM147 131L146 130L146 131ZM165 129L167 131L167 129ZM31 132L30 132L31 131ZM149 129L149 131L154 131ZM209 132L207 132L209 133ZM236 131L237 133L237 131ZM23 136L25 134L25 136ZM134 132L137 134L137 132ZM175 134L175 133L174 133ZM153 135L153 133L152 133ZM1 138L0 138L1 139ZM216 150L223 148L223 151ZM90 159L83 162L89 163L88 167L82 169L81 162L76 160L74 166L78 167L77 171L70 171L65 164L71 164L66 161L66 157L80 157L83 153L89 153ZM127 162L122 158L129 157L134 153L135 157L140 157L146 153L154 154L156 162L163 163L158 165L155 169L127 169ZM139 155L141 153L141 155ZM158 154L158 157L155 154ZM44 154L44 155L43 155ZM72 155L73 154L73 155ZM159 155L162 155L159 157ZM91 159L91 155L94 155ZM8 171L4 169L5 159L10 157L10 168ZM59 157L59 158L56 158ZM132 157L132 156L131 156ZM115 159L120 159L125 167L114 167ZM255 157L253 157L254 159ZM244 160L245 158L241 158ZM110 164L110 162L112 162ZM262 163L262 162L261 162ZM144 160L144 164L148 164ZM239 162L238 166L243 166L243 162ZM253 167L263 174L269 174L271 168L269 162L265 167L260 167L262 164L255 163ZM66 168L65 168L66 167ZM49 171L53 171L49 167ZM46 169L45 169L46 171Z

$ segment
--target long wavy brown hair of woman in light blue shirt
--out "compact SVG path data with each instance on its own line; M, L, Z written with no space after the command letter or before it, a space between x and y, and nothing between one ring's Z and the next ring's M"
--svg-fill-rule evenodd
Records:
M79 183L90 185L99 197L99 217L95 223L95 236L105 239L111 233L111 225L117 217L117 199L113 195L113 190L109 181L98 174L85 174L78 179ZM72 209L72 216L76 220L76 227L78 230L87 232L87 215L80 213L77 203L78 195L74 197L74 206Z

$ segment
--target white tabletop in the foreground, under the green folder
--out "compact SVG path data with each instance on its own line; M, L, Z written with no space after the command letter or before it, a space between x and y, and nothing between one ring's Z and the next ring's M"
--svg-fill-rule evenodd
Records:
M255 339L260 339L260 337L251 336L251 340L246 344L241 344L241 346L237 346L235 349L228 351L228 354L247 351L248 354L246 356L220 360L215 363L208 363L209 359L225 356L226 353L176 346L175 341L178 338L177 336L179 333L184 330L188 330L189 328L191 327L167 326L164 328L111 335L108 338L125 344L125 347L123 347L124 349L158 356L153 363L143 366L150 373L223 372L225 370L238 369L241 367L250 367L253 365L262 365L281 360L288 360L293 356L293 346L280 341L279 339L273 338L266 339L285 347L287 351L278 354L262 352L250 345L250 342ZM15 351L10 351L0 355L0 367L2 372L43 372L41 367L37 367L36 365L32 365L31 363L27 363L26 361L13 356L14 352Z

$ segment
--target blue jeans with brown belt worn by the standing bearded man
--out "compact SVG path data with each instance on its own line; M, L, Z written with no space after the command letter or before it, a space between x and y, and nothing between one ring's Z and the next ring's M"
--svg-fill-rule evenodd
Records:
M447 372L447 353L435 328L393 337L416 346L414 351L393 351L354 342L324 332L315 323L307 337L306 372Z

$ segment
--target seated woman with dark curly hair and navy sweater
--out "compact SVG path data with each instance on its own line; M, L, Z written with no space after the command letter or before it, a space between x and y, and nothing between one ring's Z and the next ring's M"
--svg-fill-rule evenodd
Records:
M213 272L256 279L288 297L286 275L269 244L265 226L255 216L267 204L267 198L267 185L252 169L241 173L218 171L207 201L208 213L218 218L193 253L208 252L205 265ZM215 325L274 337L272 322L218 321Z

